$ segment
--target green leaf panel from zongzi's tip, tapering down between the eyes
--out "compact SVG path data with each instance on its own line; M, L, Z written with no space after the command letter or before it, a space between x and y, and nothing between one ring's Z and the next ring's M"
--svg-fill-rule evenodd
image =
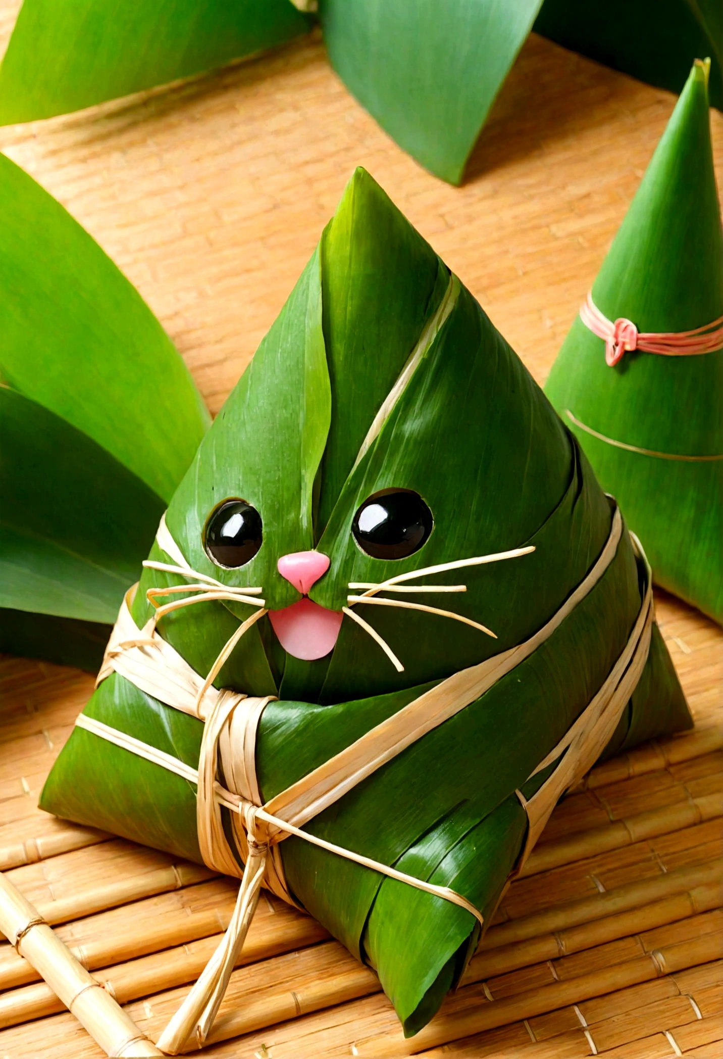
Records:
M380 227L386 239L378 237ZM322 464L321 536L369 423L437 308L449 273L364 169L322 238L324 338L332 388ZM367 306L376 306L372 320Z

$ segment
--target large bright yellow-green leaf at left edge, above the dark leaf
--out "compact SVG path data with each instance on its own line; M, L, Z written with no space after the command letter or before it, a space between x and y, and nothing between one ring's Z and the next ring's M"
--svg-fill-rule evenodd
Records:
M0 381L168 500L209 413L167 335L88 233L4 156L0 223Z

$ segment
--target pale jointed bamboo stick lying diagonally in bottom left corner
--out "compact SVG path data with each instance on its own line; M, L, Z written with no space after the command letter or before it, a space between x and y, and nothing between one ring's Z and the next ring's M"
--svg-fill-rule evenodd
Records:
M0 929L108 1056L163 1055L0 874Z

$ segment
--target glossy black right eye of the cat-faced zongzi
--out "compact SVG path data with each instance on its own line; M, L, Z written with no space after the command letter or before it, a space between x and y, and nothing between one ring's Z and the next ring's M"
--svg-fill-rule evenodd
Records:
M412 489L382 489L368 497L354 517L351 533L373 559L405 559L432 533L432 511Z

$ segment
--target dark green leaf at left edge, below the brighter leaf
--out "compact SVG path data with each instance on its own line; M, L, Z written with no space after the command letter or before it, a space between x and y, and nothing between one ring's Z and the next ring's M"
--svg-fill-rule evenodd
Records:
M90 437L0 388L0 607L113 623L163 502Z

